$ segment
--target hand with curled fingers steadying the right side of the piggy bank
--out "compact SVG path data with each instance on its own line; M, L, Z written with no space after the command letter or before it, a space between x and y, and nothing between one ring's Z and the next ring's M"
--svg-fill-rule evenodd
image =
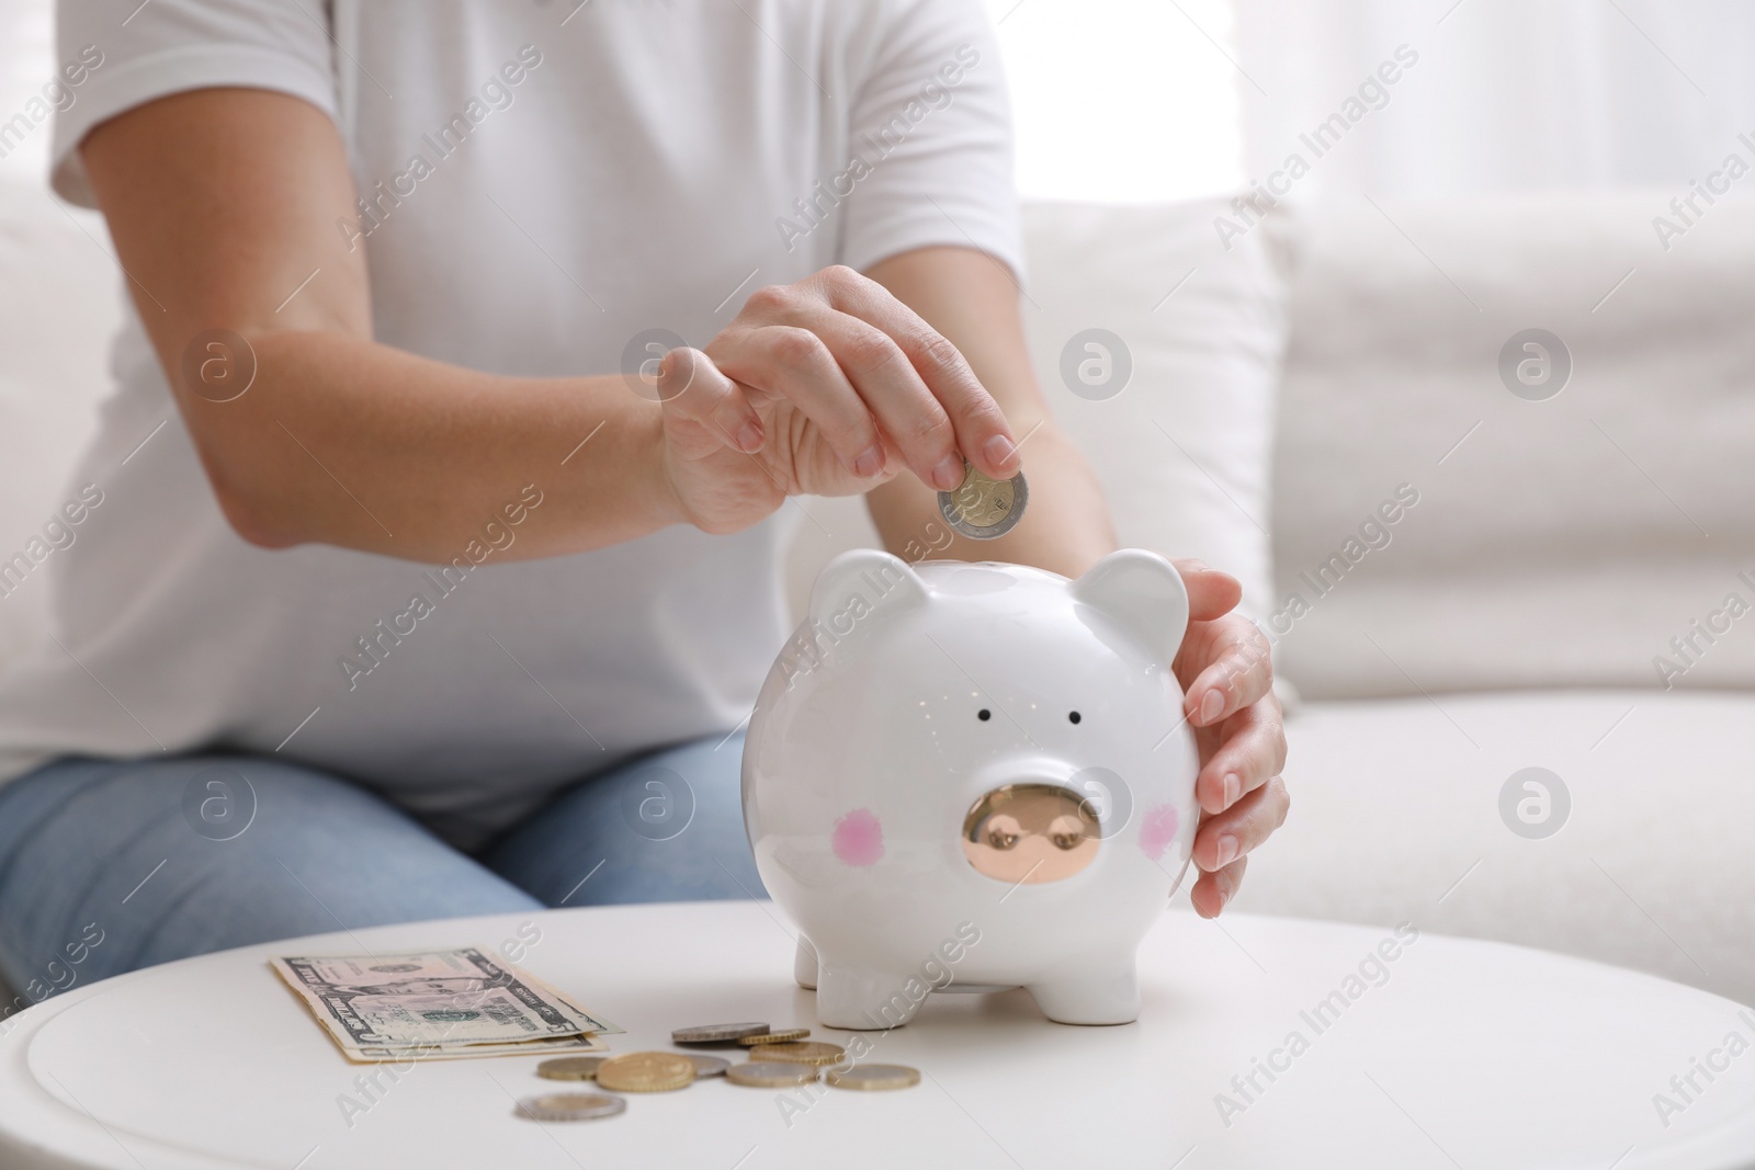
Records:
M1197 914L1214 917L1237 893L1250 851L1286 819L1292 802L1279 777L1286 731L1267 639L1234 612L1243 586L1195 560L1172 563L1188 589L1188 633L1176 654L1176 681L1200 749L1193 851L1200 879L1188 900Z

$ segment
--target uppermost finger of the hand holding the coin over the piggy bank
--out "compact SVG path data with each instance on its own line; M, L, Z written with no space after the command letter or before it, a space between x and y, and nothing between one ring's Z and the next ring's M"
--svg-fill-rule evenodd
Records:
M920 382L949 421L955 449L967 456L983 475L1009 479L1018 474L1018 442L1006 423L1006 414L981 386L981 379L969 368L956 346L890 295L883 284L851 268L841 265L823 268L804 284L818 293L830 309L879 330L902 351ZM907 449L906 428L904 433L895 430L890 433L897 444ZM949 444L939 460L946 454L951 454ZM937 463L928 467L937 467ZM962 482L960 458L955 470L958 482ZM939 486L934 477L923 479ZM955 482L949 484L949 488L955 486ZM949 488L941 489L949 491Z

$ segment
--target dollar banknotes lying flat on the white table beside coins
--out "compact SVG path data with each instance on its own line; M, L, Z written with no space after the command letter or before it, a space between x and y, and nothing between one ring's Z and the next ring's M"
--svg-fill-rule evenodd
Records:
M621 1031L484 947L283 956L274 970L351 1059L607 1051Z

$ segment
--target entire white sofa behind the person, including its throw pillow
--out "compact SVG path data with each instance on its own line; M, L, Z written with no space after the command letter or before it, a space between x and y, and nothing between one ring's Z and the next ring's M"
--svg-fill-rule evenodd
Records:
M65 493L121 284L97 221L0 196L11 553ZM1755 600L1755 209L1722 203L1665 254L1648 219L1667 198L1362 202L1276 214L1228 251L1220 202L1028 210L1032 349L1123 540L1237 572L1304 695L1292 816L1236 909L1411 919L1755 1002L1755 617L1673 691L1651 667L1727 593ZM1060 374L1092 326L1134 365L1106 400ZM1497 374L1529 326L1574 356L1548 402ZM1400 484L1418 503L1388 544L1313 596L1300 574ZM856 502L806 512L795 605L872 540ZM1309 607L1288 621L1293 591ZM0 600L0 661L46 617L40 581ZM1525 767L1571 793L1548 838L1499 812Z

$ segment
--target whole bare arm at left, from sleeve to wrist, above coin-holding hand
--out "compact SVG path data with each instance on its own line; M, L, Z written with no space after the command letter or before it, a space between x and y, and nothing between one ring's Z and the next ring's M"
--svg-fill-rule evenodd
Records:
M518 539L497 554L526 558L681 519L660 407L621 377L500 377L372 342L365 251L335 230L353 179L316 107L267 89L176 93L98 125L81 156L177 410L247 540L449 561L512 509Z

